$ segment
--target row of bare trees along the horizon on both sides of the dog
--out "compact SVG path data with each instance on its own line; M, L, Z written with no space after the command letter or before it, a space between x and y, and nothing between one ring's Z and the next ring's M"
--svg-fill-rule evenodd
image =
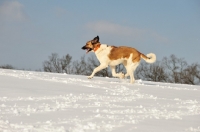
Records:
M59 57L53 53L48 60L43 62L45 72L67 73L77 75L90 75L94 68L99 66L96 57L90 56L87 59L82 56L80 60L72 61L72 56ZM126 73L122 64L116 67L116 72ZM109 68L99 71L95 74L101 77L112 77ZM154 64L147 64L141 61L135 71L135 79L155 82L169 82L181 84L200 84L200 65L198 63L188 64L183 58L177 58L175 55L164 57L161 61Z

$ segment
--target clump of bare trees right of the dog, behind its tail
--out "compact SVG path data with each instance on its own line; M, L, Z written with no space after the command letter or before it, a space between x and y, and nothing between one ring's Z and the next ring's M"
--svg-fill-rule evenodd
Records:
M136 70L136 78L147 81L199 85L200 65L198 63L189 65L183 58L171 55L152 65L142 62Z

